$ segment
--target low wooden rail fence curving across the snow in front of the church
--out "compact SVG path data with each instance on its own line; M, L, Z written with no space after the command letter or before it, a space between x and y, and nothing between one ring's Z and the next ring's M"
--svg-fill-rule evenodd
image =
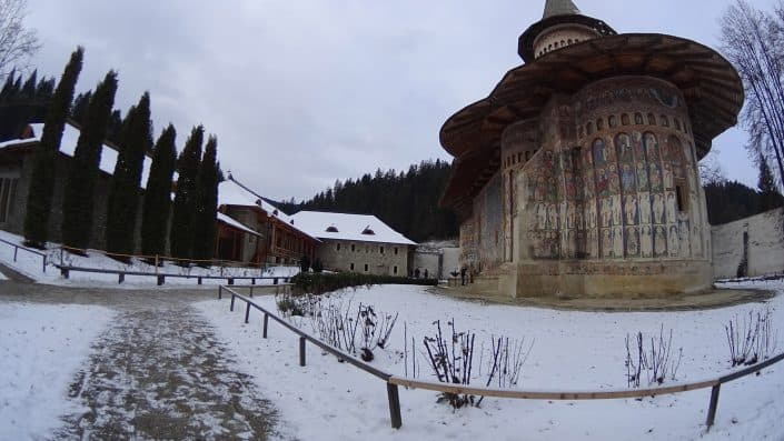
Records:
M218 288L218 299L222 299L224 291L227 291L231 295L231 302L230 302L230 307L229 307L231 311L234 311L234 309L235 309L236 299L244 301L246 303L246 309L245 309L245 322L246 323L248 323L248 321L250 319L250 310L251 309L258 310L259 312L264 313L262 337L265 339L267 338L267 332L268 332L267 328L269 324L269 319L272 319L274 321L281 324L284 328L286 328L289 331L294 332L295 334L299 335L299 365L305 365L305 362L306 362L305 344L307 341L309 341L312 344L317 345L318 348L322 349L324 351L337 357L338 360L347 362L347 363L385 381L386 385L387 385L387 400L389 402L389 419L391 421L391 427L395 429L399 429L403 425L403 418L400 414L400 395L399 395L399 391L398 391L398 387L403 385L408 389L424 389L424 390L430 390L430 391L436 391L436 392L448 392L448 393L473 394L473 395L482 395L482 397L495 397L495 398L522 399L522 400L562 400L562 401L616 400L616 399L624 399L624 398L645 398L645 397L666 395L666 394L673 394L673 393L694 391L694 390L698 390L698 389L712 388L711 401L708 403L707 418L705 420L705 425L709 430L711 427L715 422L716 409L718 408L718 393L721 391L722 384L728 383L731 381L734 381L734 380L737 380L741 378L744 378L746 375L754 374L754 373L761 371L762 369L765 369L772 364L775 364L775 363L784 360L784 353L781 353L781 354L773 357L771 359L767 359L761 363L757 363L752 367L745 368L743 370L730 373L727 375L711 379L711 380L705 380L705 381L699 381L699 382L694 382L694 383L673 384L673 385L667 385L667 387L662 387L662 388L621 389L621 390L614 390L614 391L576 391L576 392L574 392L574 391L569 391L569 392L567 392L567 391L522 391L522 390L512 390L512 389L474 388L474 387L462 385L462 384L440 383L440 382L433 382L433 381L419 381L419 380L413 380L409 378L393 375L390 373L384 372L380 369L377 369L377 368L355 358L354 355L350 355L346 352L343 352L339 349L336 349L336 348L322 342L321 340L319 340L319 339L308 334L307 332L296 328L295 325L292 325L288 321L281 319L280 317L268 311L267 309L258 305L251 299L238 293L236 291L237 288L239 288L239 287L220 285ZM242 287L242 288L247 288L247 287Z

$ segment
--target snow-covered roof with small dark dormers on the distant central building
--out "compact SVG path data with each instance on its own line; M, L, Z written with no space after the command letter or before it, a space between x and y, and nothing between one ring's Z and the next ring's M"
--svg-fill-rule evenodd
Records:
M375 216L300 211L292 218L310 235L320 239L416 244Z

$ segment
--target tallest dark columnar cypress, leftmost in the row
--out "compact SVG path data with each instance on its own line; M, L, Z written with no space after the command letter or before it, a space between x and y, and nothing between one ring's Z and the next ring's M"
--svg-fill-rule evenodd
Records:
M60 150L62 131L73 99L73 89L81 72L82 59L83 50L79 47L71 54L71 60L66 66L49 103L41 141L33 157L24 216L24 240L31 247L43 248L49 239L49 213L54 191L54 160Z

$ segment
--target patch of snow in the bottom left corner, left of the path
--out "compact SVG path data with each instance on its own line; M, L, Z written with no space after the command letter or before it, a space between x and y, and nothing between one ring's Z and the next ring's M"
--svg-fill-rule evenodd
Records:
M69 385L112 315L83 304L0 303L0 440L44 439L59 417L79 411Z

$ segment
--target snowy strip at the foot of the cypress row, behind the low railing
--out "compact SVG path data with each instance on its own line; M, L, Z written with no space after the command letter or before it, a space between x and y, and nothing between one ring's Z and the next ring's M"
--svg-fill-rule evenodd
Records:
M22 244L23 239L17 234L0 230L0 239L12 243ZM122 270L135 272L155 272L155 265L148 264L141 260L132 259L126 264L115 259L108 258L98 251L89 251L87 257L62 252L57 249L56 243L50 244L50 250L47 254L47 272L42 270L42 257L30 253L24 250L17 252L17 261L13 261L13 247L0 242L0 263L12 268L20 273L36 280L40 283L58 284L67 287L106 287L121 289L138 289L150 288L157 285L157 279L149 275L127 275L122 284L118 284L117 274L101 274L90 272L72 271L69 279L63 279L60 271L54 268L54 264L66 264L71 267L93 268L105 270ZM267 269L260 268L182 268L171 262L166 262L158 268L159 273L181 274L181 275L212 275L212 277L291 277L299 272L297 267L270 267ZM204 280L204 285L209 289L215 289L218 284L226 284L226 279ZM250 283L250 281L237 280L237 284ZM257 284L271 284L272 280L257 280ZM167 278L166 287L197 287L196 279L186 278Z

